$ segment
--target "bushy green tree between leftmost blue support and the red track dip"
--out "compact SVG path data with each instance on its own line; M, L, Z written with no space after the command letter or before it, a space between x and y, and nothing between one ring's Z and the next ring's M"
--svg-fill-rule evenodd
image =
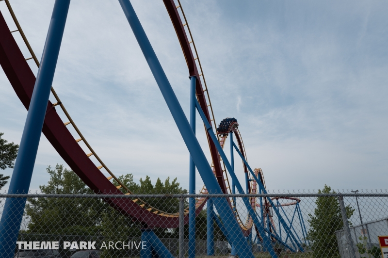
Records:
M47 168L50 179L39 186L43 194L94 194L73 171L56 165ZM95 235L108 205L92 198L29 198L28 233Z

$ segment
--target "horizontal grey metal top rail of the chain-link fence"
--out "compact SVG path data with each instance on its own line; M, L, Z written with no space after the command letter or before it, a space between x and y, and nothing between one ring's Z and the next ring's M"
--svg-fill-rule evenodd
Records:
M0 194L0 198L220 198L220 197L388 197L388 193L336 194Z

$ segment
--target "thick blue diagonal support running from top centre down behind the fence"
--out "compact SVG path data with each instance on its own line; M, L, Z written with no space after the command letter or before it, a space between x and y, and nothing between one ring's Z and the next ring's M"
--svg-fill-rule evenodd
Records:
M119 2L206 188L210 193L223 194L130 1ZM226 198L216 198L214 206L222 221L227 222L224 233L236 246L239 257L254 258Z

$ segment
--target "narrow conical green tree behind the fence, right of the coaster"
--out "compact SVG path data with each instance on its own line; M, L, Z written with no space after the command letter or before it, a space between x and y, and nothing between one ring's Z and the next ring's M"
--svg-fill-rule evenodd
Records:
M327 185L323 190L318 190L318 194L335 194ZM308 214L310 229L307 238L311 242L313 257L320 258L339 258L339 250L335 231L343 228L341 210L337 197L317 197L314 215ZM353 215L354 209L346 206L348 218ZM349 224L351 224L349 222Z

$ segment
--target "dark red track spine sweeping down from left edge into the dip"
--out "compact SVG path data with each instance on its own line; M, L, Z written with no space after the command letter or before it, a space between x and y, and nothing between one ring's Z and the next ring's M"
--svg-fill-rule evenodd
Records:
M14 88L17 97L28 110L35 76L27 64L14 37L12 36L4 17L0 12L0 64L8 80ZM97 194L123 194L109 181L86 156L77 144L64 122L57 114L52 103L49 102L42 129L59 155L71 169ZM150 227L174 228L178 227L178 217L164 217L141 208L128 198L105 199L112 207L134 220L141 221ZM202 206L203 207L203 206ZM202 210L199 207L196 212ZM185 223L188 217L185 216Z

